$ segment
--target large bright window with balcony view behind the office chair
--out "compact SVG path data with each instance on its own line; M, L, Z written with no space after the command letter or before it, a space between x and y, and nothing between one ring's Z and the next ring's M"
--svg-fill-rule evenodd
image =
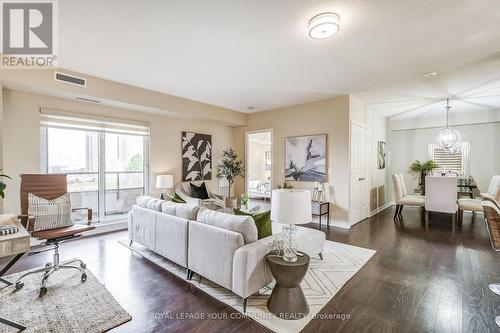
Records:
M50 114L42 114L41 125L42 170L68 175L73 207L92 208L96 221L109 221L124 217L135 199L147 193L146 127L137 131L126 124Z

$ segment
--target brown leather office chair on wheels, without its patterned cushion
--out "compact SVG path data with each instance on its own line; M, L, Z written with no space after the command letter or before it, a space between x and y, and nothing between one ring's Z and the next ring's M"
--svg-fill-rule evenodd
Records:
M68 184L66 175L64 174L23 174L21 175L21 223L30 232L31 236L44 241L44 244L54 246L54 260L52 263L47 263L45 267L32 270L22 275L16 281L16 289L21 289L24 284L21 280L30 274L44 272L42 277L42 285L40 288L40 296L47 292L45 283L49 276L59 269L77 269L81 275L82 282L87 279L85 272L86 265L80 259L71 259L59 262L59 244L63 241L79 237L83 232L95 229L91 226L92 210L89 208L73 208L72 211L87 210L87 224L74 224L67 227L34 231L37 223L36 216L28 215L28 194L32 193L46 200L53 200L68 192ZM72 266L71 263L79 263L79 266Z

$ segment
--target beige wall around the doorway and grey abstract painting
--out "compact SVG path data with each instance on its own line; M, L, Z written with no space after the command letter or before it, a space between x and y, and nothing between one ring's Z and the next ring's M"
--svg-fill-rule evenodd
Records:
M244 158L245 131L273 130L273 187L285 179L284 139L288 136L327 134L328 199L334 202L332 222L346 227L349 199L349 97L300 104L250 114L248 126L235 129L235 148ZM311 182L290 182L296 188L312 189ZM237 182L237 193L244 182Z

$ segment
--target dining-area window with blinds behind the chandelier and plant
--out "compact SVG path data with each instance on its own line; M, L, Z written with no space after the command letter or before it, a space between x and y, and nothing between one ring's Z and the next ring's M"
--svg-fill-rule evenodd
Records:
M429 157L439 165L437 172L453 172L460 176L468 176L469 143L461 142L459 149L449 152L436 144L429 145Z

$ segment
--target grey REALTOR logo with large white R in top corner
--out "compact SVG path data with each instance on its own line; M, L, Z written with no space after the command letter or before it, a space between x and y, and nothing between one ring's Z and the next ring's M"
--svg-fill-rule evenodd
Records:
M2 2L2 67L55 65L55 2Z

